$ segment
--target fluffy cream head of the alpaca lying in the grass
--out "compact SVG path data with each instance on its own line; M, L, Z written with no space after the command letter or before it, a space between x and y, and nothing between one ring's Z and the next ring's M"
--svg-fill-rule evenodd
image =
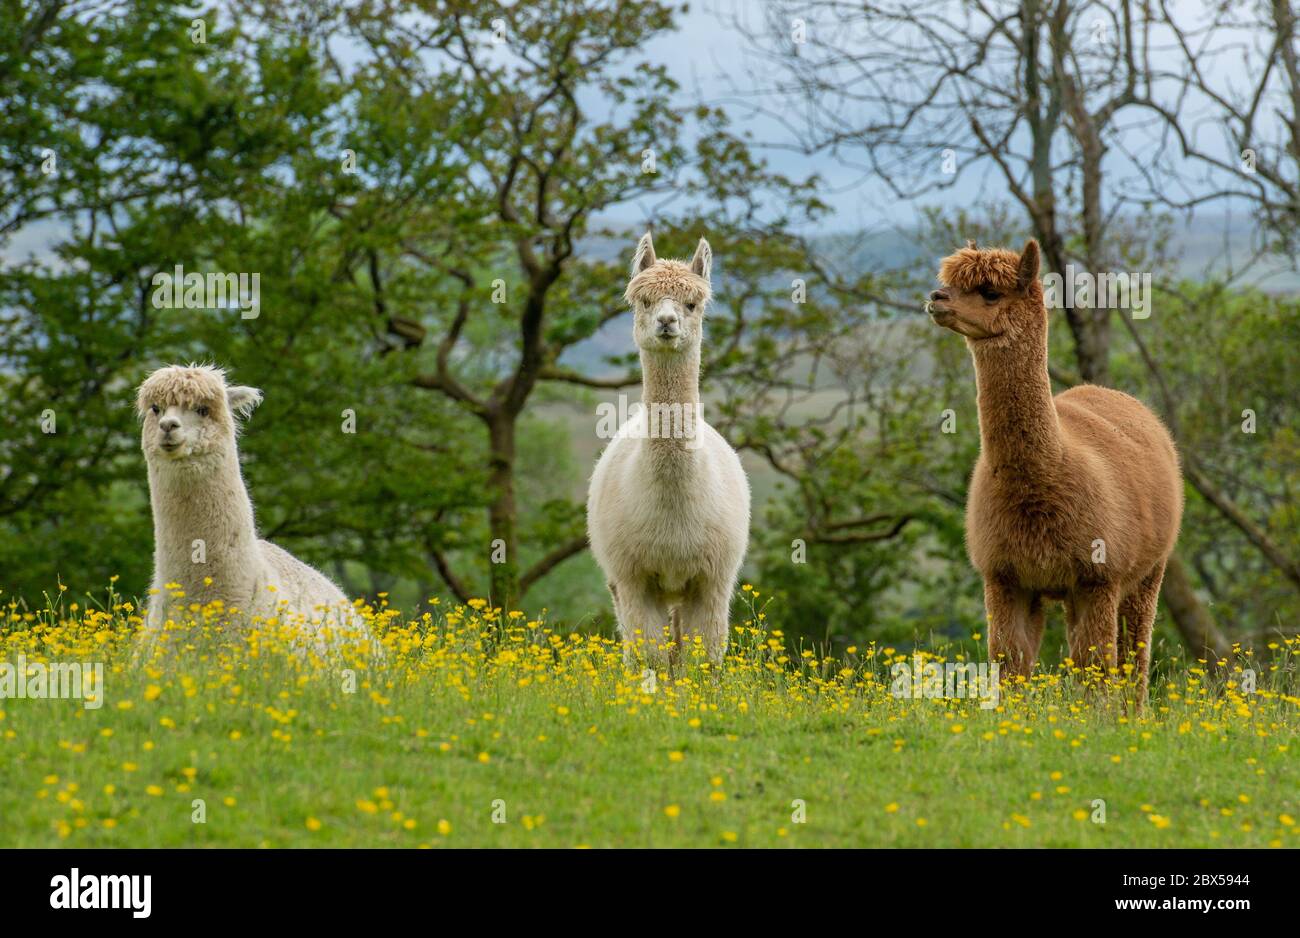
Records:
M212 365L168 365L140 385L135 399L144 421L140 448L155 465L218 461L235 443L235 417L261 403L255 387L228 386Z

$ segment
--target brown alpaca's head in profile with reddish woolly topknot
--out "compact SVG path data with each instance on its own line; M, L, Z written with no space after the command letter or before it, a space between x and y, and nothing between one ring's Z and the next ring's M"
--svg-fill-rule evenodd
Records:
M941 290L930 295L927 312L944 329L965 335L972 348L1013 346L1044 334L1046 309L1039 282L1039 243L1020 253L979 249L971 242L944 259Z

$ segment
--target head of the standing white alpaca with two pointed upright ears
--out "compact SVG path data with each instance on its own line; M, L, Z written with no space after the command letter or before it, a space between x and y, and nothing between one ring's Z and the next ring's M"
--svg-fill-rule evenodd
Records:
M646 231L637 244L632 279L624 294L632 305L632 334L641 351L672 355L699 348L712 262L714 252L703 238L690 264L659 260Z

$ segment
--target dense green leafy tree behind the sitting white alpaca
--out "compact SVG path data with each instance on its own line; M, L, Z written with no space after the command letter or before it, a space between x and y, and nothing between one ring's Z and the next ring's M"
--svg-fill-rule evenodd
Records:
M190 360L268 390L240 448L270 537L322 563L364 557L416 576L413 531L471 501L476 479L459 453L404 433L412 418L454 429L454 414L394 401L384 356L365 353L373 334L356 316L361 292L339 277L329 213L347 179L334 171L342 86L300 35L211 14L200 29L174 4L10 4L0 16L12 40L4 227L10 244L53 242L0 269L4 586L35 594L56 577L88 587L121 574L118 590L143 591L134 387ZM261 314L159 308L153 277L176 265L254 272ZM342 429L343 409L359 412L360 434ZM434 466L446 485L415 485Z

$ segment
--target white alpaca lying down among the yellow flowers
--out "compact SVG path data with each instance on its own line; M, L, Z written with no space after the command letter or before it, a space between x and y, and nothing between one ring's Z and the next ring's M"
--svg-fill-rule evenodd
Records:
M317 651L342 638L361 640L364 622L324 574L259 540L239 473L235 417L261 403L254 387L228 387L225 372L172 365L140 385L140 448L153 508L153 598L148 633L157 635L181 604L220 600L250 620L292 624ZM324 630L330 630L325 640Z

